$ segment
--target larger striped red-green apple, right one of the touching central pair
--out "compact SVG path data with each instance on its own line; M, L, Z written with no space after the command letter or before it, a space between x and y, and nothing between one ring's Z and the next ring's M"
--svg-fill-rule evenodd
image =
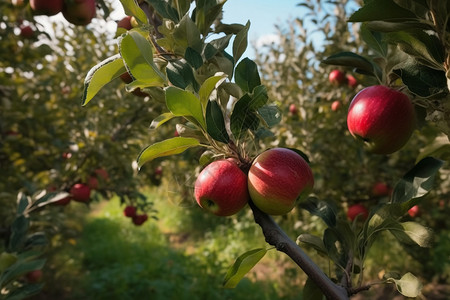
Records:
M295 151L272 148L258 155L248 172L253 203L270 215L290 212L296 200L309 194L314 176L308 163Z

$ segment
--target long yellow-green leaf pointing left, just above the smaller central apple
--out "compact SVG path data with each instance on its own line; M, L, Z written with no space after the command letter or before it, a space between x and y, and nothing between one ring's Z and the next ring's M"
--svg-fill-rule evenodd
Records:
M155 143L141 151L137 158L138 167L141 168L143 164L155 158L179 154L196 146L200 146L197 139L185 137L174 137Z

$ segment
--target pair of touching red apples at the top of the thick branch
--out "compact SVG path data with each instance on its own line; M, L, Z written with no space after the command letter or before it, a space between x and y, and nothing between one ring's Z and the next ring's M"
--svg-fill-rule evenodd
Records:
M210 163L199 174L194 194L202 208L218 216L236 214L249 199L267 214L283 215L313 186L311 168L302 156L272 148L255 158L248 175L233 159Z

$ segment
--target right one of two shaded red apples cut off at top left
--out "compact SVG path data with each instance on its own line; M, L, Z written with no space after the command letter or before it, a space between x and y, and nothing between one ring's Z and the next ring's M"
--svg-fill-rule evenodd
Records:
M74 25L87 25L95 17L95 0L64 1L64 18Z

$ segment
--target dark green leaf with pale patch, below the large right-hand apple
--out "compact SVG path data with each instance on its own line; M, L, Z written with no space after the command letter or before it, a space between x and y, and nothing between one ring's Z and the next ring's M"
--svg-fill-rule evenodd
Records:
M433 188L434 178L443 164L443 161L432 157L419 161L395 185L392 202L403 203L426 195Z

